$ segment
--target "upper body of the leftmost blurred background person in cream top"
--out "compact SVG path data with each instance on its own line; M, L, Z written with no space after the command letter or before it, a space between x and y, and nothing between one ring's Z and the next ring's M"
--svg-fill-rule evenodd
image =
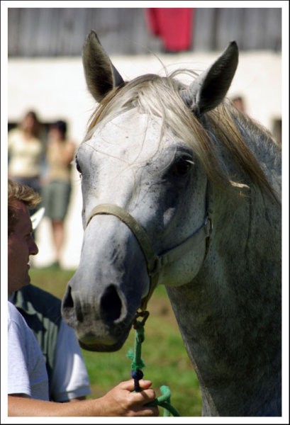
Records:
M28 111L18 127L8 133L8 175L41 191L41 174L44 160L44 146L40 140L40 121L34 111ZM31 211L33 214L35 210Z

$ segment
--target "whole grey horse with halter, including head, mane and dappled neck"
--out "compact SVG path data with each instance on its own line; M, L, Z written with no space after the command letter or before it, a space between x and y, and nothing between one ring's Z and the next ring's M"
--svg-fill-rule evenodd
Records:
M191 84L123 81L94 31L83 63L99 106L76 155L84 239L64 319L83 348L117 351L165 285L202 415L281 416L281 147L226 98L237 44Z

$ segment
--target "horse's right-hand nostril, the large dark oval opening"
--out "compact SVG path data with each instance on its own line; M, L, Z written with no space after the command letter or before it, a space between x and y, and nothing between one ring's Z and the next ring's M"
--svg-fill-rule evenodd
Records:
M120 318L122 302L113 285L108 286L101 297L100 310L102 318L108 324Z

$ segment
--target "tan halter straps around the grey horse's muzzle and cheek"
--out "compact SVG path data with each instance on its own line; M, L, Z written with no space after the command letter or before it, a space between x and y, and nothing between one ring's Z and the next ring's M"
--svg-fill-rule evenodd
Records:
M131 232L135 235L136 239L138 240L138 243L140 245L140 248L143 251L143 254L145 256L145 260L147 263L147 272L148 276L150 278L150 288L147 293L147 295L143 298L141 303L141 309L146 310L147 302L150 300L150 297L153 293L153 291L156 288L156 285L158 283L160 270L167 266L167 264L172 263L173 261L177 261L178 259L182 258L186 252L191 251L194 249L195 246L199 246L203 239L207 240L206 244L206 251L204 254L203 261L206 259L206 255L208 253L208 245L209 245L209 237L211 235L211 231L213 229L210 213L209 210L209 196L208 196L208 185L206 189L206 217L203 222L203 225L199 227L191 236L189 236L187 239L184 240L181 244L174 246L174 248L169 249L168 251L164 252L164 254L157 255L155 253L155 250L152 246L152 243L147 236L147 233L145 232L145 229L139 225L139 223L135 220L135 218L129 214L128 211L124 210L121 207L118 207L118 205L114 204L100 204L94 207L91 210L91 213L89 215L89 218L87 220L87 225L89 225L89 222L91 221L92 217L94 215L98 214L106 214L106 215L114 215L115 217L118 217L119 220L124 222ZM86 227L87 227L86 225Z

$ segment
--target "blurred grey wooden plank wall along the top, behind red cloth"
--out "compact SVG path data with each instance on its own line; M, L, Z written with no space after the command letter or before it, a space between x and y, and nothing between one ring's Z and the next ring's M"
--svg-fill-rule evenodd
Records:
M80 3L81 4L81 3ZM230 4L230 2L229 2ZM9 57L81 55L94 29L111 55L160 52L143 8L9 8ZM191 50L281 50L281 8L195 8Z

